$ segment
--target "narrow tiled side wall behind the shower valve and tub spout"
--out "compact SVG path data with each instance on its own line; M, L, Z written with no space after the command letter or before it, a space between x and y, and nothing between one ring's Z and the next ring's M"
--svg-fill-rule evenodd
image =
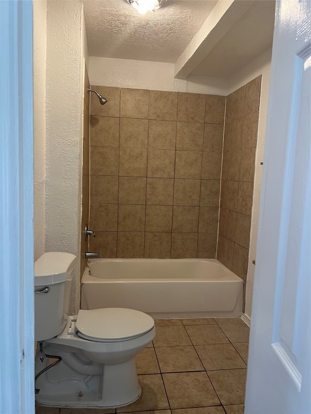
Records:
M81 222L81 278L86 267L86 251L88 251L85 240L85 227L88 223L89 214L89 88L87 68L85 66L84 79L84 107L83 107L83 166L82 166L82 222Z

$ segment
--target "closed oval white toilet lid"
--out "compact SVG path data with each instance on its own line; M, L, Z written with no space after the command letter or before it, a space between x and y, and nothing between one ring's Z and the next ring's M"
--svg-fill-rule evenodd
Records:
M98 342L132 339L151 331L155 321L149 315L133 309L104 308L80 310L76 329L79 336Z

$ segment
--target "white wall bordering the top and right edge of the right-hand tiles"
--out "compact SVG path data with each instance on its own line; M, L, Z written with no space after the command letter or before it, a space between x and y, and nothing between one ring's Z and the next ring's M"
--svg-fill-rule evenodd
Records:
M260 108L259 108L259 125L258 125L258 141L256 151L256 168L255 168L255 182L254 182L254 197L252 209L252 226L250 234L248 271L246 279L246 298L245 298L245 315L249 318L252 314L253 301L253 287L254 287L254 272L255 266L252 261L256 259L257 235L258 235L258 220L259 220L259 201L261 190L261 176L262 166L260 162L263 161L264 141L266 133L268 96L270 85L270 69L271 69L271 54L272 48L263 52L258 58L251 63L244 66L239 72L229 79L228 94L237 90L245 83L262 75L261 93L260 93Z

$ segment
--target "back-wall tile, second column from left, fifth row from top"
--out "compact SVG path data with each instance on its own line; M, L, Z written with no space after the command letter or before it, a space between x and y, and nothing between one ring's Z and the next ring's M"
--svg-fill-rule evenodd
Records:
M119 204L118 231L143 232L145 230L145 205Z

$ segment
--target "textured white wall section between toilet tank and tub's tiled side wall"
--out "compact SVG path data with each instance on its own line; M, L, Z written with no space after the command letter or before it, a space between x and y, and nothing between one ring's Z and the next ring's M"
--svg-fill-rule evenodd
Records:
M76 295L80 283L81 25L81 2L47 2L46 251L66 251L78 257L71 289L71 313L79 306Z

